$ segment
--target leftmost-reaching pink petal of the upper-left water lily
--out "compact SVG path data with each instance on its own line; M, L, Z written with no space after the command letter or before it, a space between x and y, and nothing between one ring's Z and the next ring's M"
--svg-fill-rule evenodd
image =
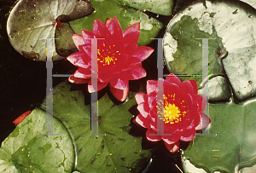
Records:
M88 61L88 59L88 56L81 51L67 56L67 61L70 61L74 66L79 66L82 68L88 68L88 64L85 62Z

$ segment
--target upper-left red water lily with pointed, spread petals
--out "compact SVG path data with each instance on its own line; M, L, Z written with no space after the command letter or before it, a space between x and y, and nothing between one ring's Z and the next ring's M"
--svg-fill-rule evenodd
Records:
M109 84L110 91L119 101L125 101L129 92L129 80L146 76L142 61L154 52L146 46L137 46L140 35L140 23L129 26L122 32L116 17L107 19L105 24L95 20L93 31L82 30L82 34L74 34L73 42L79 52L69 55L67 60L79 69L69 78L75 84L88 83L89 92L105 88ZM97 89L91 85L91 39L97 39Z

